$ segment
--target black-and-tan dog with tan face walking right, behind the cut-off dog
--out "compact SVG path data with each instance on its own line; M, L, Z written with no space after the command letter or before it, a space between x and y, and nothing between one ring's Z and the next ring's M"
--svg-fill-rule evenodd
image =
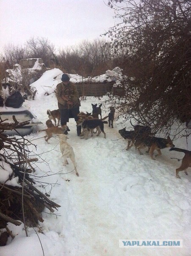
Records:
M166 147L174 147L174 144L172 143L172 140L170 139L169 136L167 137L167 139L152 137L152 136L146 136L146 137L144 136L142 138L139 137L136 140L135 146L138 149L138 152L140 153L140 155L142 155L140 149L148 147L149 155L150 155L151 159L155 160L153 158L154 150L158 151L158 155L156 155L156 156L161 156L162 155L161 149L166 148Z

